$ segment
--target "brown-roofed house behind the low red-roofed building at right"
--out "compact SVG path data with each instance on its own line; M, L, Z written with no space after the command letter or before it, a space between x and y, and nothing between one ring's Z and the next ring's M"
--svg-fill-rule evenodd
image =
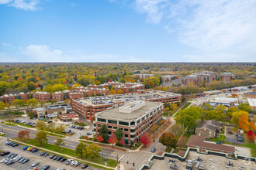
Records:
M220 133L221 128L222 124L218 121L202 121L202 124L195 128L195 134L206 138L214 138L216 134Z

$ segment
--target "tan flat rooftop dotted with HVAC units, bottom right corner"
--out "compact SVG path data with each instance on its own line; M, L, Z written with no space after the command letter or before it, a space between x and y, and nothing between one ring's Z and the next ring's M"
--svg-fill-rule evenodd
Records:
M255 162L251 162L251 161L246 161L246 160L233 160L233 159L228 159L228 158L224 158L222 156L216 156L216 155L203 155L203 154L199 154L195 151L189 151L189 155L187 157L187 160L191 160L191 161L197 161L197 158L201 158L202 161L199 162L199 165L203 165L205 167L205 169L252 169L254 170L256 168L256 164ZM169 157L164 157L164 160L157 160L154 159L153 161L153 165L151 166L150 169L171 169L170 168L170 163L168 162L168 160L177 160L175 158L169 158ZM230 161L231 163L233 163L234 167L232 166L228 166L227 162ZM174 165L174 163L172 163L172 165ZM176 165L178 165L178 169L185 169L187 162L176 162ZM174 169L174 168L172 168ZM198 169L196 168L196 163L193 164L193 168L192 169Z

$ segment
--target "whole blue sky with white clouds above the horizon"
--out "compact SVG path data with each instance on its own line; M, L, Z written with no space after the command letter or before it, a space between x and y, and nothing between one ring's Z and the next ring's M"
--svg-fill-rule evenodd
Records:
M0 62L255 62L255 0L0 0Z

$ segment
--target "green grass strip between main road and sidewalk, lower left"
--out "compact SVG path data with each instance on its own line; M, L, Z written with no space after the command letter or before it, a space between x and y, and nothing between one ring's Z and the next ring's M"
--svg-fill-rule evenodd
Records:
M19 141L19 138L14 138L15 140ZM26 141L27 144L29 145L35 145L35 146L38 146L36 144L36 142L34 141L34 139L32 138L29 138L27 141ZM57 151L61 154L64 154L64 155L70 155L72 157L76 157L76 158L80 158L78 155L76 155L75 151L73 149L70 149L70 148L64 148L64 147L61 147L61 151L59 150L59 148L57 148L55 145L51 145L51 144L45 144L43 145L41 148L45 148L45 149L49 149L51 151ZM102 164L102 165L105 165L105 162L102 161L102 157L100 158L94 158L93 160L91 159L87 159L87 158L81 158L81 159L84 159L85 161L90 161L90 162L95 162L95 163L98 163L98 164ZM116 160L113 160L113 159L110 159L107 161L108 165L110 167L116 167ZM92 166L95 166L95 165L92 165ZM100 167L100 168L103 168L103 167Z

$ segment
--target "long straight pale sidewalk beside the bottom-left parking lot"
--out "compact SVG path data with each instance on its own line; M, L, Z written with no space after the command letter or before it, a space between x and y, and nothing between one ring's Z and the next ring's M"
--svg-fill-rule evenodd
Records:
M97 165L97 166L101 166L101 167L104 167L104 168L117 169L117 167L116 168L112 168L112 167L109 167L109 166L106 166L106 165L101 165L101 164L98 164L98 163L95 163L95 162L89 162L87 160L83 160L83 159L80 159L80 158L75 158L75 157L72 157L70 155L64 155L64 154L61 154L61 153L56 152L56 151L51 151L51 150L48 150L48 149L45 149L45 148L40 148L40 147L37 147L37 146L34 146L34 145L29 145L29 144L23 143L22 141L16 141L16 140L13 140L13 139L9 139L9 141L15 141L15 142L18 142L18 143L20 143L22 145L31 146L33 148L39 148L40 150L49 151L51 153L54 153L54 154L57 154L57 155L61 155L61 156L67 157L67 158L72 158L72 159L78 160L80 162L88 162L88 163L90 163L92 165Z

